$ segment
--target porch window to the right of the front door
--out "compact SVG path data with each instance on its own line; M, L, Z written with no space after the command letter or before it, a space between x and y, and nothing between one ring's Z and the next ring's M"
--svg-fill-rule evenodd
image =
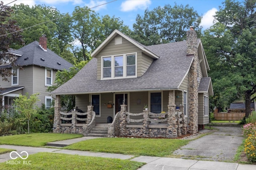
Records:
M150 111L152 113L161 113L162 111L162 100L161 93L150 93Z

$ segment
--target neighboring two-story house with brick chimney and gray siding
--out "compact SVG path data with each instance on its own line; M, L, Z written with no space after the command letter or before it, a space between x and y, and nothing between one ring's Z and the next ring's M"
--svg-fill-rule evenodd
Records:
M12 67L8 61L0 66L0 68L11 69L13 73L8 77L8 81L2 81L1 78L0 97L2 101L0 104L8 108L12 106L13 99L19 94L40 93L38 96L40 101L37 105L40 107L43 103L46 108L51 107L52 95L46 92L46 89L54 83L58 70L69 69L73 65L47 49L46 35L40 37L39 42L34 41L18 50L11 49L9 52L15 55L16 64L22 66L23 70Z

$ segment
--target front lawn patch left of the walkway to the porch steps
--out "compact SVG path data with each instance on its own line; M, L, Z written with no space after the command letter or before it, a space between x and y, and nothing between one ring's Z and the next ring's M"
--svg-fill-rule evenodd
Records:
M45 146L48 142L61 141L66 139L74 139L83 137L79 134L66 134L66 133L31 133L22 135L10 135L0 137L0 145L19 145L30 147Z

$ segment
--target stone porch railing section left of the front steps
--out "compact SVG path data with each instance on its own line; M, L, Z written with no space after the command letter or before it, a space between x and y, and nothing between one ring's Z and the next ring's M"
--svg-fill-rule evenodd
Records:
M58 103L56 106L58 107ZM72 115L72 117L69 117L69 115ZM78 115L87 115L87 118L80 118ZM62 123L62 120L71 121L71 123ZM78 123L77 121L82 121L82 123ZM60 109L55 108L53 133L78 133L86 136L95 125L96 117L93 106L87 106L86 113L78 113L77 111L64 113Z

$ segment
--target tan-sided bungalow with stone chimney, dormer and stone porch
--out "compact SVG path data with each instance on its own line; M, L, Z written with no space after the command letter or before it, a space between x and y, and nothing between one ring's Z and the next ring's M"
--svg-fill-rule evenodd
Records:
M109 123L108 137L177 137L197 133L209 123L213 89L193 27L186 41L152 46L115 30L92 57L51 93L56 95L54 132L92 135L100 124ZM76 96L76 107L87 111L84 117L60 111L62 94Z

